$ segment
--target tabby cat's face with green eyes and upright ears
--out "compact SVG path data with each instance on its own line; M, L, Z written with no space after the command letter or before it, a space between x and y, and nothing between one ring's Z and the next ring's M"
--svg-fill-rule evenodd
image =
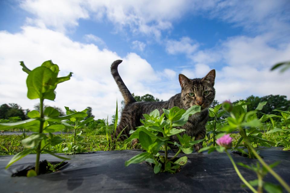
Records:
M189 79L179 74L181 98L185 109L193 105L206 109L214 100L215 70L211 70L204 78Z

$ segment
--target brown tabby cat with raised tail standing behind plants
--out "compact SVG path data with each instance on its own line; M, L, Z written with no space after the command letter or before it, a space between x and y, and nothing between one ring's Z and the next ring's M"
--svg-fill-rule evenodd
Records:
M174 106L179 108L188 109L193 105L200 105L201 112L196 113L189 117L188 122L180 128L185 129L189 136L195 137L195 140L205 138L205 124L208 120L208 107L214 100L214 79L215 70L211 70L204 78L189 79L183 74L179 74L179 83L181 86L181 93L172 96L168 101L161 102L136 102L122 78L118 73L118 65L122 60L116 60L111 65L111 74L114 77L123 97L125 107L122 111L121 120L117 127L116 136L125 128L122 134L129 136L129 131L141 125L140 119L144 118L143 114L149 114L151 111L158 109L160 115L163 113L162 109L170 109ZM122 136L121 140L125 137ZM176 135L171 138L172 141L178 141ZM136 142L136 141L135 141ZM202 147L202 143L196 144L195 150ZM176 146L172 147L176 150Z

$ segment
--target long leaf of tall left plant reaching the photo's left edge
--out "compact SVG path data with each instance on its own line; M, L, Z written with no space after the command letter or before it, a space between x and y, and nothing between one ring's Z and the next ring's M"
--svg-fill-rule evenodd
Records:
M0 130L7 130L12 128L28 129L30 127L39 128L39 123L40 121L38 121L36 118L13 123L0 123Z

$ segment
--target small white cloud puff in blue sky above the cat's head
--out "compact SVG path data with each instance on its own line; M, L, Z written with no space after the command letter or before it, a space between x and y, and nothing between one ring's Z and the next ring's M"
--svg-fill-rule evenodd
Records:
M198 48L198 43L189 37L182 37L180 41L167 40L166 41L166 52L169 54L185 53L187 55L192 54Z

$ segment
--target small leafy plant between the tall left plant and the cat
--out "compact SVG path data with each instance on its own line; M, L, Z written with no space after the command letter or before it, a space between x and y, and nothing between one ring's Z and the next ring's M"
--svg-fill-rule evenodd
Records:
M68 136L68 138L73 138L73 142L69 142L69 144L73 143L73 145L71 146L71 148L65 147L63 149L63 151L67 151L68 154L75 154L76 150L78 150L80 145L87 145L88 144L88 143L82 143L81 142L84 138L83 138L83 136L81 136L82 131L79 131L79 129L81 129L86 124L88 124L90 121L92 121L92 119L94 119L94 117L89 117L89 118L84 120L84 118L88 116L86 114L88 109L82 110L81 112L77 112L76 110L70 110L69 107L66 107L66 106L65 106L65 109L66 109L66 115L72 115L74 113L81 113L81 114L79 114L77 116L74 116L74 117L70 118L70 121L75 123L74 126L69 125L66 122L61 122L63 125L65 125L65 126L67 126L69 128L72 128L73 131L74 131L73 135Z

